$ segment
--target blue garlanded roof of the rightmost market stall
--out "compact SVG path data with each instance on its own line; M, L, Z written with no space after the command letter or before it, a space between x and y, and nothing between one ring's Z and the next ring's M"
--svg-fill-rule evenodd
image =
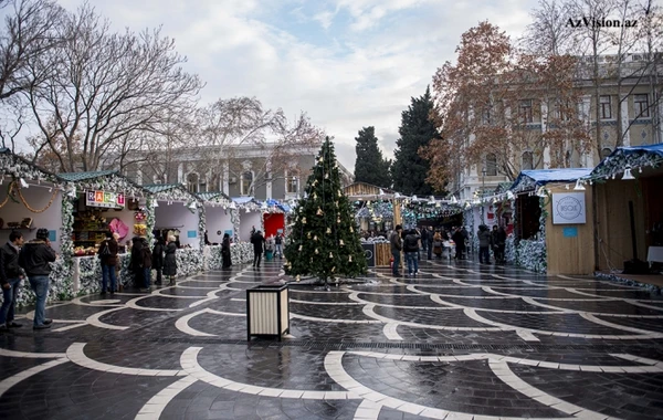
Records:
M656 167L663 164L663 144L618 147L591 171L591 178L608 178L627 168Z

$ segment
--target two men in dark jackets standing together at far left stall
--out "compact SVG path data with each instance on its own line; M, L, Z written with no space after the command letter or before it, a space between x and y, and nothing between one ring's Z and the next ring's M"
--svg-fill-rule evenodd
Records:
M53 319L45 317L46 297L49 296L49 274L51 263L57 254L51 248L48 229L38 229L35 239L24 242L23 234L12 231L9 241L0 248L0 287L2 288L2 306L0 306L0 332L19 328L14 321L14 307L23 279L28 279L35 295L33 329L51 327Z

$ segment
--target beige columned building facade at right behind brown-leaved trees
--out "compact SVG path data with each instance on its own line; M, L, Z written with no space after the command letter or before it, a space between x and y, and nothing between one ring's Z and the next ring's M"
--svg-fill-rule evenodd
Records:
M579 151L569 145L562 150L551 150L537 147L534 140L530 147L522 147L511 156L516 175L527 169L591 168L618 146L663 143L663 54L659 55L652 63L643 54L629 54L619 65L615 55L599 56L599 82L592 76L593 57L579 57L572 87L577 101L573 109L575 117L583 123L591 147ZM540 139L555 128L551 122L559 117L552 103L555 93L528 86L522 91L517 109L503 107L501 112L517 114L523 122L520 129L533 139ZM467 141L474 140L470 135ZM555 159L555 153L564 156ZM460 200L472 200L488 195L499 183L513 181L513 177L499 170L497 159L496 154L487 153L481 164L465 166L449 189Z

